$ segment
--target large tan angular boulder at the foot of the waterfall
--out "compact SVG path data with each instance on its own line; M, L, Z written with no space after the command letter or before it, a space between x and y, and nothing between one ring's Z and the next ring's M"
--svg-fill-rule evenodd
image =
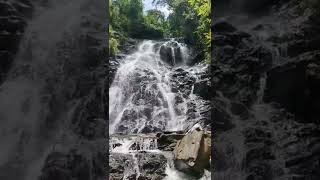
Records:
M187 133L174 149L175 167L194 176L210 167L211 138L200 129Z

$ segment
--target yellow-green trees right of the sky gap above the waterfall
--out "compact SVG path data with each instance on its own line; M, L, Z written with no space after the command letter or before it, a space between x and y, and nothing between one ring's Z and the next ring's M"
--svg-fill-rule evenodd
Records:
M184 37L198 49L204 49L205 60L211 54L211 0L154 0L158 5L168 5L170 35Z

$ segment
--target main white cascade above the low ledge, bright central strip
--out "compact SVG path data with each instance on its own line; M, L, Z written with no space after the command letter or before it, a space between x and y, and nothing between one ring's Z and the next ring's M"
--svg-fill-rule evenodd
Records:
M172 59L179 66L172 67L161 60L160 48L163 46L171 49ZM178 57L181 57L181 62L177 62ZM188 57L184 44L170 40L143 41L134 53L121 59L109 89L109 133L140 133L144 128L152 131L185 129L187 103L199 100L192 93L185 97L182 93L172 92L171 74L179 67L195 77L200 71L196 69L203 67L185 66ZM183 103L176 103L177 96L183 97Z

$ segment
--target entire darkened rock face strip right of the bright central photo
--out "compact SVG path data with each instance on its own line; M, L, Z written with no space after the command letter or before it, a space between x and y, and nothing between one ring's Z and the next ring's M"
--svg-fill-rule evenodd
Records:
M319 10L228 2L212 26L213 178L319 179Z

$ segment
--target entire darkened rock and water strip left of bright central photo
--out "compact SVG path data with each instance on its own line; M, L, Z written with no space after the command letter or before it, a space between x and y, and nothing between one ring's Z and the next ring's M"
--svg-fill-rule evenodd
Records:
M0 7L0 179L105 179L105 2Z

